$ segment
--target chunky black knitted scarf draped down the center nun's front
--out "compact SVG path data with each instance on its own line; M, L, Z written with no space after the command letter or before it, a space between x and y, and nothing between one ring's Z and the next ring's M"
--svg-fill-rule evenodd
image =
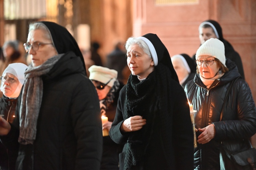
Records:
M143 162L156 119L164 127L161 132L161 136L164 136L164 138L159 139L167 148L164 152L167 155L171 154L169 150L171 148L171 138L169 137L172 128L170 122L167 122L166 119L172 110L170 79L170 70L161 63L142 82L132 74L128 79L124 106L125 119L140 115L147 120L147 124L141 130L129 134L125 153L125 170L137 165L138 162Z

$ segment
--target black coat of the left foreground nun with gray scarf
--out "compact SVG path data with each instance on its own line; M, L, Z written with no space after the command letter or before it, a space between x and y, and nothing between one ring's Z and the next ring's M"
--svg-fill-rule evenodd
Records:
M99 99L80 57L64 54L43 80L43 97L33 145L18 144L21 96L11 131L1 140L19 147L18 170L98 170L102 155Z

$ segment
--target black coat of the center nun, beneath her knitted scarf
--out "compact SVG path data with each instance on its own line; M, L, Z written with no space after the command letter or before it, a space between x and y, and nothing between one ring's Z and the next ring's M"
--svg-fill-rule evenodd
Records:
M129 133L127 132L123 133L120 131L120 126L122 125L125 115L124 111L124 102L126 98L126 86L125 85L120 93L119 93L119 99L118 99L118 105L116 109L116 116L112 123L112 127L110 129L110 136L113 141L119 144L124 144L123 152L119 154L119 162L120 162L120 170L122 169L124 165L125 160L125 152L127 150L127 140L129 137ZM162 122L159 121L159 118L156 118L154 124L150 124L150 126L153 126L153 132L152 132L152 140L148 143L148 149L146 150L146 154L144 157L143 165L135 166L131 169L136 169L139 166L142 166L144 170L169 170L171 169L191 169L190 167L190 142L187 142L189 139L191 141L193 140L191 136L191 132L187 131L187 128L191 126L190 123L187 122L187 119L185 117L185 113L188 113L189 109L185 106L187 105L187 101L183 100L184 96L184 90L183 88L175 81L172 81L170 89L172 90L172 100L174 102L170 103L173 106L172 111L169 113L170 117L166 117L167 121L170 122L170 126L172 127L172 132L169 133L168 136L162 135L162 128L163 127ZM184 94L185 95L185 94ZM156 97L154 98L156 99ZM148 102L151 103L149 105L152 105L153 103L159 102L154 99L148 99ZM153 112L153 111L152 111ZM157 111L157 114L162 114ZM157 116L159 117L159 115ZM185 117L185 118L184 118ZM183 121L182 121L183 120ZM147 121L147 123L149 120ZM168 129L168 128L167 128ZM191 127L192 129L192 127ZM171 150L172 155L170 157L166 156L166 146L163 145L163 141L165 138L171 138L172 143ZM188 139L189 138L189 139ZM192 142L191 142L192 143ZM192 151L192 150L191 150ZM123 170L123 169L122 169Z

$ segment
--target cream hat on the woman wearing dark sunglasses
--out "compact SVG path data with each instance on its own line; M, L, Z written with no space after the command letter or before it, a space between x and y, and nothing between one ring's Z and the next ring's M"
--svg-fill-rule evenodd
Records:
M108 86L113 87L116 79L117 79L117 71L113 69L109 69L106 67L93 65L89 69L90 72L90 80L96 80L101 83L108 83Z

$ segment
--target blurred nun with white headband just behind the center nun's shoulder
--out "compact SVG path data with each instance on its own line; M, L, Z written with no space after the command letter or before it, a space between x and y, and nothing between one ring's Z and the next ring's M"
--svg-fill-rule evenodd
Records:
M187 54L173 55L171 60L179 78L180 85L185 88L187 82L195 77L196 67L194 61Z

